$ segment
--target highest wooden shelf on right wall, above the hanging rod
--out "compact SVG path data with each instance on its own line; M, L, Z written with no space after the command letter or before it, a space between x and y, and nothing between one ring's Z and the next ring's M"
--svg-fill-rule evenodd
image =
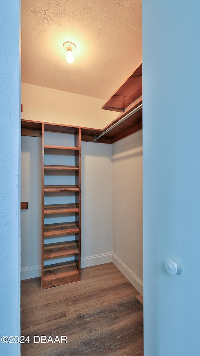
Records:
M142 62L114 92L102 109L121 112L142 95Z

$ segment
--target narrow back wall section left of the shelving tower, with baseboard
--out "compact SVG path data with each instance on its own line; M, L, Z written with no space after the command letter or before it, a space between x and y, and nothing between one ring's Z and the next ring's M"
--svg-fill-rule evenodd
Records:
M40 276L42 232L42 139L21 137L21 277Z

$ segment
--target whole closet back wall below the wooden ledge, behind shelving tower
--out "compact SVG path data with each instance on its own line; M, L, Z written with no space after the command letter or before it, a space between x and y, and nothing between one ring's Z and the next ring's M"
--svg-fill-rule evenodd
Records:
M66 137L59 133L56 137L59 135ZM51 133L47 132L47 136L45 140L48 138L52 143ZM68 144L74 146L72 141L69 141L70 136L73 135L68 135ZM59 142L61 139L62 137L59 137ZM41 275L41 145L41 138L22 136L21 201L28 201L29 209L21 211L21 279ZM66 156L62 153L56 155L56 162L52 161L55 155L49 153L45 155L46 164L66 164L63 162ZM83 268L112 261L112 145L82 142L81 160L81 268ZM70 164L74 162L70 161ZM55 184L50 181L54 178L52 174L47 173L45 184ZM60 184L65 183L62 181L64 178L62 174L56 178ZM69 176L67 179L72 177ZM68 183L74 184L73 181ZM72 195L67 199L74 199ZM53 201L55 198L58 200ZM56 197L45 194L45 204L74 202L62 199L66 199L63 194L62 197L59 197L59 193ZM61 215L54 218L48 216L45 223L62 222L62 219ZM65 216L64 219L68 217ZM70 216L69 219L66 221L73 221L73 217ZM60 239L65 240L65 237ZM71 236L70 239L73 240ZM50 240L46 243L54 242Z

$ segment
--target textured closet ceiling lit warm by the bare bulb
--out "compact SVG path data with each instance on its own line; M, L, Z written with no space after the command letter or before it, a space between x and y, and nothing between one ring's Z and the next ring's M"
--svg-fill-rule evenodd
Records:
M141 0L22 0L22 82L109 96L142 60Z

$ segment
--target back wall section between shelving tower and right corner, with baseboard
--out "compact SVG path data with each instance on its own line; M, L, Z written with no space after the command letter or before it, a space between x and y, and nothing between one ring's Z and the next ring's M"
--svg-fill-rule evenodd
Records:
M112 262L112 145L81 142L81 267Z

